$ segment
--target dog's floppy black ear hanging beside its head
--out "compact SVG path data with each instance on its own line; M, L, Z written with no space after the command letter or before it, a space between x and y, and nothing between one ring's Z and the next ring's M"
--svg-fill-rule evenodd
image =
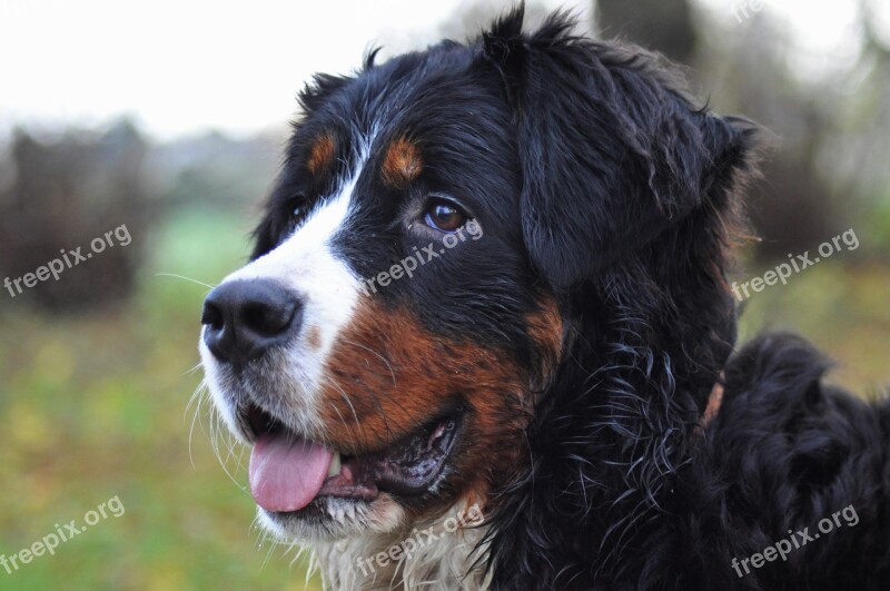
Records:
M575 37L564 13L524 35L523 12L496 21L483 52L515 112L526 247L558 289L724 200L749 140L694 109L654 56Z

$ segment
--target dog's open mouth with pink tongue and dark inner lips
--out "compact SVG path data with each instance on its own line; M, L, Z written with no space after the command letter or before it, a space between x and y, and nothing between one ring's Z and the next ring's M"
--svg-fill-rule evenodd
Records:
M250 493L275 513L300 511L326 496L370 502L380 491L400 496L427 492L445 467L462 418L455 412L378 452L346 455L289 431L259 406L251 404L245 416L256 435Z

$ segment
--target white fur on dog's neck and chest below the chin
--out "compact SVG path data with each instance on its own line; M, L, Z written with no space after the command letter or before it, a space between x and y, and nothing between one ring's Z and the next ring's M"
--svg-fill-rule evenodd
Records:
M332 591L487 589L475 564L486 529L478 506L459 504L397 532L314 543L314 558Z

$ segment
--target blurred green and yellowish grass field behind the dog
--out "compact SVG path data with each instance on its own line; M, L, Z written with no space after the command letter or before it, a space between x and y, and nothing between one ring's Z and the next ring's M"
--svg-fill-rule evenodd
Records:
M0 308L0 553L117 496L98 521L8 574L0 589L304 589L293 552L251 530L246 456L215 457L206 414L187 412L206 287L247 253L240 218L184 211L152 237L138 294L93 316ZM749 303L743 333L799 328L841 361L835 381L867 392L890 377L890 270L829 260ZM318 589L312 581L308 589Z

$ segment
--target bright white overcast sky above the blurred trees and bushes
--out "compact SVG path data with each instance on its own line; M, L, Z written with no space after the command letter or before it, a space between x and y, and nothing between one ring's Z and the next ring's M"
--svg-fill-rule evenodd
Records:
M465 1L0 0L0 134L16 121L101 125L121 114L161 139L281 125L312 72L348 72L370 43L393 51L432 41ZM735 7L756 6L703 2L730 24ZM584 14L590 4L543 3ZM853 0L763 4L817 63L850 46Z

